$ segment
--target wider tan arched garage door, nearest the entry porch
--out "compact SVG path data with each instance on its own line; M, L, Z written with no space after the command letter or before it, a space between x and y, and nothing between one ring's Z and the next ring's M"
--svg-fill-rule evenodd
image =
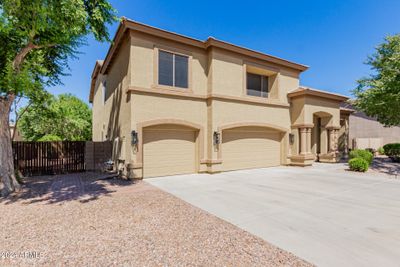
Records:
M222 133L222 169L279 166L281 134L265 128L237 128Z

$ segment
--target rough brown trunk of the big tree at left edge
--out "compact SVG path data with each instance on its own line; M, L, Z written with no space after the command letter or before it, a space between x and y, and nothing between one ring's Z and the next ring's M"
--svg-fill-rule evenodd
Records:
M0 97L0 194L7 196L18 191L20 185L15 177L11 146L9 116L15 95Z

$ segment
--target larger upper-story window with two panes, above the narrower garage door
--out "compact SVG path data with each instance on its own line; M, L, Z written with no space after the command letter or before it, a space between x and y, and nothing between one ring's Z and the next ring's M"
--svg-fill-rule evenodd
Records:
M189 57L159 51L158 84L188 88Z

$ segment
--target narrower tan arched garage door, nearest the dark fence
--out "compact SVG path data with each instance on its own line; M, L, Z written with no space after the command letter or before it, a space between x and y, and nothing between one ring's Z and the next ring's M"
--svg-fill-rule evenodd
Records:
M194 173L196 132L179 126L144 130L143 177Z

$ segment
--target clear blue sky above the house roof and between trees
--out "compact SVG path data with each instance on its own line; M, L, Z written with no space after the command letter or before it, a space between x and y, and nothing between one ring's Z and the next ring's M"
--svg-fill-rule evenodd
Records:
M118 1L119 16L204 40L208 36L308 65L301 84L351 96L370 73L363 63L389 34L400 33L400 1ZM110 26L114 36L117 23ZM88 101L90 75L109 44L88 37L64 85Z

